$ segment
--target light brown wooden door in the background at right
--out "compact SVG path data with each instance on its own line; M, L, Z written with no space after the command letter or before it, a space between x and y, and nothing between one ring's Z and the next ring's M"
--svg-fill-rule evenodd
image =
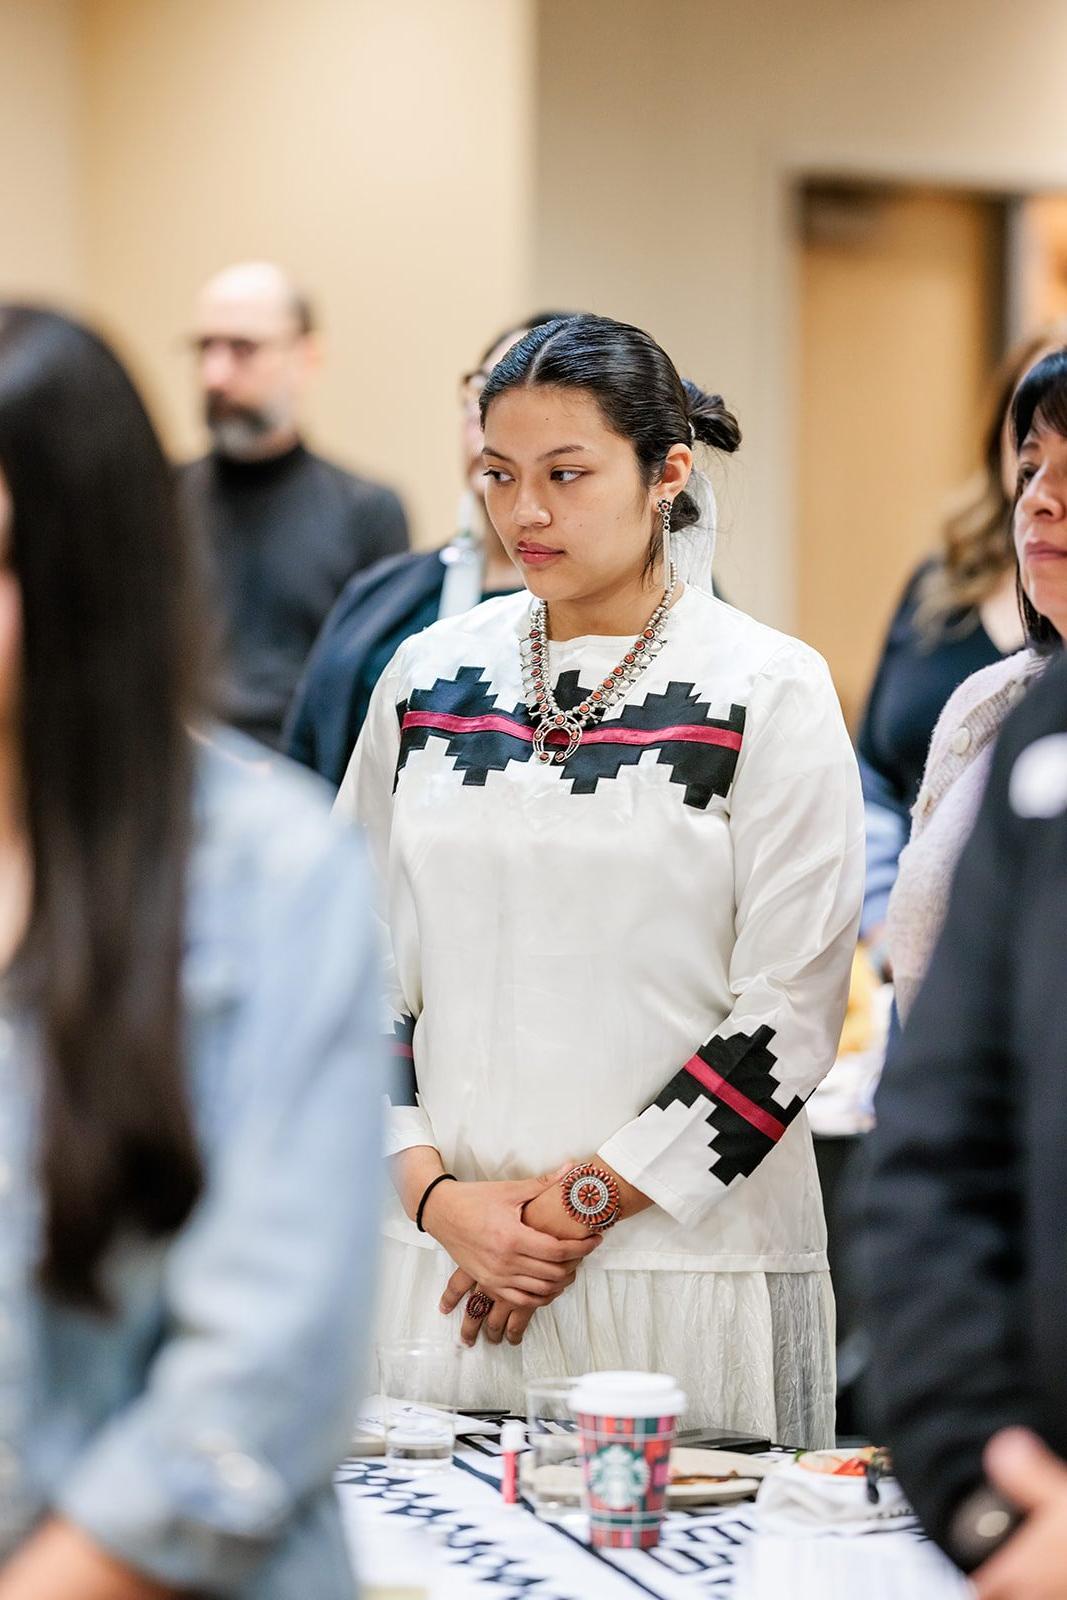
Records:
M797 630L830 662L854 730L901 590L976 466L1008 206L817 182L798 222Z

